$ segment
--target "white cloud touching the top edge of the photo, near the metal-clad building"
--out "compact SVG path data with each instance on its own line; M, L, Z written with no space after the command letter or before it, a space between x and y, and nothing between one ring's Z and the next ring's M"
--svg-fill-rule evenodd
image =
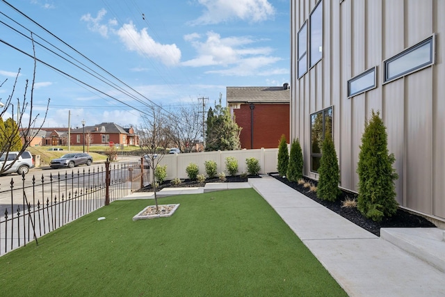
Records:
M191 24L218 24L232 19L261 22L275 15L268 0L198 0L205 6L204 14Z

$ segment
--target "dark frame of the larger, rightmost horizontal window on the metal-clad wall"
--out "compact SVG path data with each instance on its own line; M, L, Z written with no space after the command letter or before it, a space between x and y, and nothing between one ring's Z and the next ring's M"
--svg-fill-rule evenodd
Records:
M430 61L427 63L423 63L421 65L418 65L416 67L412 67L408 70L405 70L399 74L393 75L392 77L389 77L388 75L388 67L391 64L391 62L397 61L399 58L402 58L403 56L406 56L407 54L412 53L413 51L416 51L416 49L419 49L423 47L424 45L430 44ZM403 50L401 53L396 54L395 56L392 56L391 58L386 59L383 61L383 67L382 67L382 77L383 77L383 84L389 83L391 81L395 81L396 79L400 79L401 77L406 77L409 74L412 74L414 72L417 72L419 70L425 69L426 67L430 67L430 65L435 64L435 34L431 35L430 37L426 38L425 40L422 40L421 42L417 43L416 45L413 45L412 47L408 47L407 49Z

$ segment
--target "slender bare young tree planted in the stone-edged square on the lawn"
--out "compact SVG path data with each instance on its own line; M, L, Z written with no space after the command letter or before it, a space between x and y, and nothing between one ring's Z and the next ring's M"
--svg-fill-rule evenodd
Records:
M160 106L152 106L152 109L143 115L140 127L136 127L136 133L142 141L140 149L143 152L143 161L148 161L150 176L152 177L152 187L154 191L154 201L156 211L159 212L158 199L156 196L156 179L154 172L163 159L168 139L165 137L165 117L161 113ZM142 164L143 166L143 164Z

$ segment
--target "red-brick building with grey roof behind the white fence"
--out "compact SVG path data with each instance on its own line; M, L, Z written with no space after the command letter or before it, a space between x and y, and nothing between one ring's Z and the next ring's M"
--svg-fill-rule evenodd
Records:
M278 147L289 139L289 84L281 87L227 87L227 106L241 127L241 147Z

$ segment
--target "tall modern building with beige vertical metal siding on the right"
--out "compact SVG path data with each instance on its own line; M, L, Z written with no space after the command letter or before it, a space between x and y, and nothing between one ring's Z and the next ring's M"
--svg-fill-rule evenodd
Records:
M357 191L365 122L380 111L398 203L445 220L445 1L296 0L290 8L291 139L302 144L305 176L318 179L318 122L334 139L341 187Z

